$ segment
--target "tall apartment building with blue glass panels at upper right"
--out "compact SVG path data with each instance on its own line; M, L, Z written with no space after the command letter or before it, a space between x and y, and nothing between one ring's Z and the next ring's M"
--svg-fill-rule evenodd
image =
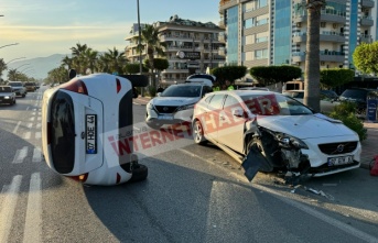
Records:
M220 0L226 63L298 65L304 70L305 0ZM327 0L321 10L320 67L353 68L353 52L377 40L375 0Z

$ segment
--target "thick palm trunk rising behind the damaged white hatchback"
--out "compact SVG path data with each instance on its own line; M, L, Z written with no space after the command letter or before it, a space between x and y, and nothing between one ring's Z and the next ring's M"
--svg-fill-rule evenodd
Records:
M305 104L321 110L320 103L320 29L321 29L321 10L325 5L325 0L306 0L307 9L307 41L304 70L304 98Z

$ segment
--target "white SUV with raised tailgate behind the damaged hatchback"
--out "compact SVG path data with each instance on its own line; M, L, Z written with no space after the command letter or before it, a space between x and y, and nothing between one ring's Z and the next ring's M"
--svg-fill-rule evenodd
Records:
M164 124L191 122L194 104L212 91L210 86L196 82L171 85L147 104L145 123L159 129Z

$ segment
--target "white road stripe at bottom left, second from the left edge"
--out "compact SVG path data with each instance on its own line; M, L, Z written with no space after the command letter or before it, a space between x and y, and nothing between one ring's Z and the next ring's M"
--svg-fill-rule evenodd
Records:
M42 194L40 173L33 173L30 179L25 230L23 242L42 242Z

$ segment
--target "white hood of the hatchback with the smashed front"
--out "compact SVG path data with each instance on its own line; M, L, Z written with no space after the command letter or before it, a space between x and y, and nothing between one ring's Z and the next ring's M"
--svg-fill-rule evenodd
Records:
M282 132L301 140L356 135L342 122L317 114L258 117L257 123L271 131Z

